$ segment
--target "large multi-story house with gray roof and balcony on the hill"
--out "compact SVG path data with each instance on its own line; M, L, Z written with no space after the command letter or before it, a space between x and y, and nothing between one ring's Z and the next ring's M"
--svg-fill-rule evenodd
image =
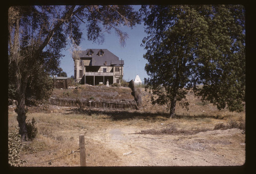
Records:
M74 51L74 78L77 82L98 85L109 82L121 83L124 61L111 53L108 49L87 49Z

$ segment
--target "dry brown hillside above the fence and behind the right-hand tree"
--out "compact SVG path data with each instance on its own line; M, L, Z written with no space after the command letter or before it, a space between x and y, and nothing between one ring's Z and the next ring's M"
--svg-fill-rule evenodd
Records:
M167 105L159 106L152 105L152 94L145 91L144 88L137 88L142 97L142 107L140 112L164 113L169 112ZM54 89L52 97L67 98L69 100L92 100L92 101L108 101L108 102L135 102L134 96L131 94L132 90L129 87L106 87L106 86L90 86L82 85L70 89ZM236 113L229 112L227 109L218 110L216 106L209 102L202 102L200 97L189 92L186 95L189 102L189 110L182 108L179 102L176 105L176 115L178 116L210 116L210 117L224 117L228 115L245 115L245 112Z

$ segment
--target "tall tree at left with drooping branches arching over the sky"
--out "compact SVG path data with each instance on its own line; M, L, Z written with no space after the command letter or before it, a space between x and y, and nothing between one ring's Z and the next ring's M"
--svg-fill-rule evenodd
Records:
M20 135L25 140L26 89L35 83L33 73L57 74L61 50L67 41L73 48L80 44L81 22L85 23L91 41L103 42L104 31L115 30L124 44L127 34L118 29L140 22L139 13L131 6L13 6L9 8L9 91L17 100ZM34 77L34 78L31 78ZM33 80L31 82L31 80ZM10 95L9 95L10 96Z

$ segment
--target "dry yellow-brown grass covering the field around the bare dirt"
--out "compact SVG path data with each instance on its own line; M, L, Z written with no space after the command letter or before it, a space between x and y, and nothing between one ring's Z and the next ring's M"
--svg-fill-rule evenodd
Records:
M77 90L83 91L84 88L89 89L91 87L86 86ZM66 93L72 93L73 91L71 90L74 89L70 89ZM114 89L109 88L109 90ZM120 93L123 90L124 93L128 94L126 88L116 88L115 90L118 90ZM79 166L79 153L70 153L79 148L78 137L80 134L84 134L86 135L86 161L88 166L119 166L122 164L122 160L116 152L105 147L100 139L95 140L90 137L91 133L95 134L98 131L102 132L110 128L130 126L132 128L140 128L141 130L150 130L159 128L161 125L175 123L173 127L164 127L154 130L155 132L141 133L191 135L201 131L214 130L218 125L221 127L228 124L234 125L236 121L245 122L245 112L219 111L209 103L202 103L200 98L195 97L193 94L187 95L190 103L189 111L177 105L176 117L169 119L167 107L153 106L150 102L150 94L144 92L143 89L141 91L143 108L140 110L77 110L75 108L49 105L48 111L37 113L37 110L33 110L31 107L27 114L27 119L32 120L33 117L35 118L38 135L32 142L27 142L25 145L22 157L28 161L26 165ZM57 89L54 92L57 94L63 91ZM9 112L9 131L18 125L16 116L15 112ZM51 163L39 163L58 157L61 158L53 160Z

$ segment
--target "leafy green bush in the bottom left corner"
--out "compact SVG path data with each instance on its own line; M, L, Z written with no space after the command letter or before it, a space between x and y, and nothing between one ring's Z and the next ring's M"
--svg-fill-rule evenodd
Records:
M27 161L20 159L22 152L22 138L19 135L19 128L15 128L8 135L8 163L11 166L21 166Z

